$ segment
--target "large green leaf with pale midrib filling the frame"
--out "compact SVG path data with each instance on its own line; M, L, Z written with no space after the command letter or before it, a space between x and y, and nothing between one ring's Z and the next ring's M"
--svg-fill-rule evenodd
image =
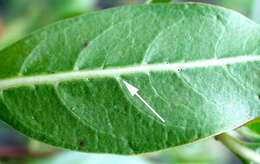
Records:
M203 4L75 17L0 52L0 118L32 138L87 152L192 143L260 116L259 43L259 25Z

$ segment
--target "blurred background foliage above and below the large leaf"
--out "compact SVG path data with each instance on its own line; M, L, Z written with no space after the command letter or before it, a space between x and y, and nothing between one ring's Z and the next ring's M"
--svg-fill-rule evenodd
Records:
M185 0L175 0L176 3ZM0 0L0 49L43 26L106 8L145 0ZM187 2L187 1L185 1ZM234 9L260 23L260 0L200 0ZM239 164L212 139L138 156L88 154L61 150L29 139L0 122L0 164Z

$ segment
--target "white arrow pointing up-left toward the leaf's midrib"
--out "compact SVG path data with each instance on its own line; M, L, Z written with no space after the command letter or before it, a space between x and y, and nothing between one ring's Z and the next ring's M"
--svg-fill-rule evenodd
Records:
M162 122L165 122L165 120L137 93L139 89L126 81L123 82L132 96L136 95L160 120L162 120Z

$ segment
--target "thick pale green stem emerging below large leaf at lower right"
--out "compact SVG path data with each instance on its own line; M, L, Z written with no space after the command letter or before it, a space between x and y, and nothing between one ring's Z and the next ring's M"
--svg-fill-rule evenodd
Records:
M255 163L260 163L260 155L243 145L243 143L237 138L226 133L218 135L215 138L240 157Z

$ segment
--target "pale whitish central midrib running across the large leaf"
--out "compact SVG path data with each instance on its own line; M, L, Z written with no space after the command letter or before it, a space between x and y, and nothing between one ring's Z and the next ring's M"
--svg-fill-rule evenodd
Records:
M116 77L125 74L134 73L147 73L147 72L158 72L158 71L175 71L179 69L192 69L202 67L216 67L226 66L229 64L246 63L260 61L260 56L238 56L232 58L223 59L209 59L201 61L192 61L187 63L174 63L174 64L149 64L140 66L128 66L118 67L100 70L81 70L71 71L63 73L55 73L48 75L35 75L35 76L23 76L15 77L10 79L0 80L0 90L20 87L26 85L37 85L37 84L53 84L62 81L95 78L95 77Z

